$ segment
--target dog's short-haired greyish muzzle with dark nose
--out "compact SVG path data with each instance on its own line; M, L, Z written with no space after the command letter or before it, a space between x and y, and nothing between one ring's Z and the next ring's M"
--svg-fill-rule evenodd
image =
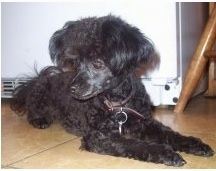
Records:
M107 66L96 68L91 62L83 63L70 83L71 96L80 100L90 99L109 89L113 79L112 72Z

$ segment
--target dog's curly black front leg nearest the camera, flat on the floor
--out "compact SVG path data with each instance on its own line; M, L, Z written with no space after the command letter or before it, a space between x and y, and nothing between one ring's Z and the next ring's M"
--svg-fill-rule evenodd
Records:
M113 156L129 157L141 161L164 163L172 166L182 166L186 162L170 146L144 142L139 139L129 139L119 134L93 131L84 136L82 147L88 151Z

